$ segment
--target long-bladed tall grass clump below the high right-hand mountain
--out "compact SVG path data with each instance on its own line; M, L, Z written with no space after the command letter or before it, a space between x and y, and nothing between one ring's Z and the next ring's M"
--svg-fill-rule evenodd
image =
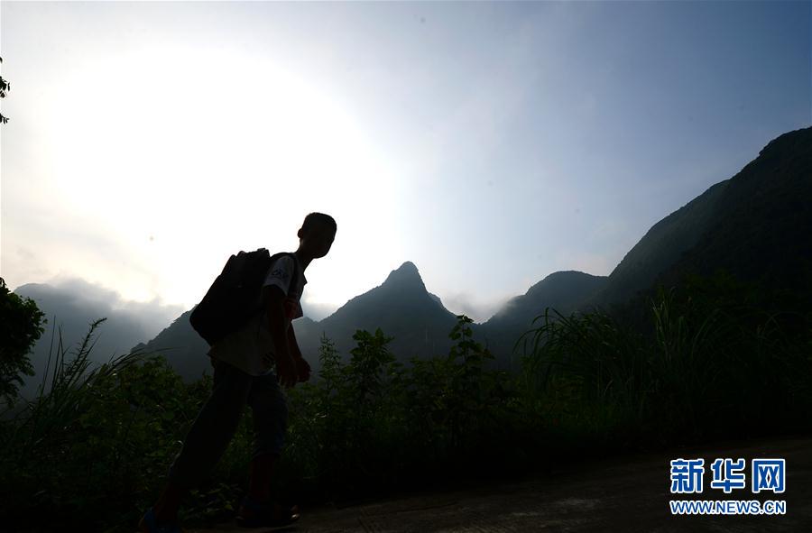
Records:
M621 446L803 429L812 361L780 313L677 289L649 309L648 332L546 309L520 339L525 398L571 435Z

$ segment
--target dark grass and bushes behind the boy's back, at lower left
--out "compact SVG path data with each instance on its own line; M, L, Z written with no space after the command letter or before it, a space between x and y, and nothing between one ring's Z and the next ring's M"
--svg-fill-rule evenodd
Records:
M146 502L148 478L177 450L177 428L194 417L191 389L158 354L134 351L91 368L104 320L70 351L61 329L55 351L51 338L36 398L0 426L0 515L9 527L115 522L122 508Z

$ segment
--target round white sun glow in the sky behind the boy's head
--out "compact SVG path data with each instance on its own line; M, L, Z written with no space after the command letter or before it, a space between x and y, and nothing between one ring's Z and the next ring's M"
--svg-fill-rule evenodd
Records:
M70 73L43 128L57 192L141 262L122 272L99 258L91 278L125 285L125 298L159 293L190 307L224 252L295 244L310 210L339 220L330 281L309 284L310 301L340 304L369 289L369 268L381 277L397 266L391 173L327 90L271 59L182 46L103 56ZM352 257L369 241L376 256L358 269ZM171 282L156 286L156 274Z

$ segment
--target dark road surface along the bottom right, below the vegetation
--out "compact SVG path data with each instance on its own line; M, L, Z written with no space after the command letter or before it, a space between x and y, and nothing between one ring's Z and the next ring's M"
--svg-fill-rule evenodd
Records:
M704 492L671 494L671 459L705 459ZM747 488L711 489L717 457L746 459ZM753 494L752 458L786 459L785 492ZM781 516L673 516L669 500L784 500ZM303 509L289 528L238 528L226 523L189 533L506 531L807 531L812 532L812 438L753 441L633 455L568 467L536 481L499 483L453 492L423 492L343 509Z

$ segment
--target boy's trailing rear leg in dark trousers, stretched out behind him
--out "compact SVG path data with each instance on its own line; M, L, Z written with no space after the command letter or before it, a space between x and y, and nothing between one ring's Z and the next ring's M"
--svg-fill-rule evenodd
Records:
M252 376L228 363L217 362L211 394L189 428L183 447L171 464L166 487L153 506L159 522L177 521L180 500L208 476L226 451L251 385Z

